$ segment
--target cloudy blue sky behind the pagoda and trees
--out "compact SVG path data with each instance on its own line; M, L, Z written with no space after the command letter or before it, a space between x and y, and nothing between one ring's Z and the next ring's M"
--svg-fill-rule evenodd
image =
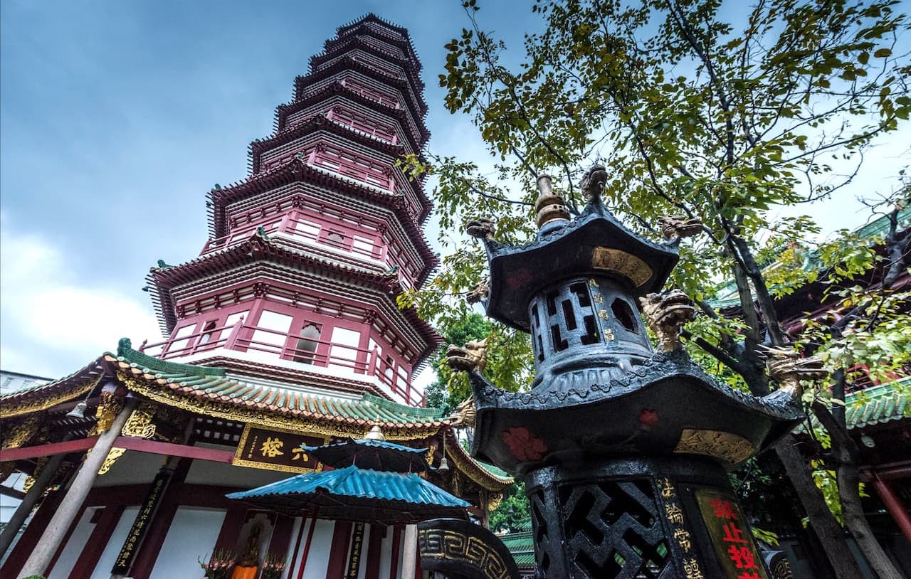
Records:
M443 46L467 24L460 4L4 0L0 365L56 377L122 336L154 341L148 267L199 253L205 193L245 177L247 145L271 132L294 76L367 12L410 30L430 147L483 163L475 129L445 111L436 86ZM523 3L484 6L481 24L511 46L539 25ZM861 189L894 181L900 142L875 156ZM856 192L820 209L831 228L863 219Z

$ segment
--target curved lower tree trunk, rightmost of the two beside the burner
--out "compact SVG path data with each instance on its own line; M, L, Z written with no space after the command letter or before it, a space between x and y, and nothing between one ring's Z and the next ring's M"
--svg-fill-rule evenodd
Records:
M835 480L838 483L838 499L842 503L844 526L855 538L857 546L864 553L867 563L879 579L902 579L895 564L885 554L876 540L870 523L867 522L860 502L860 473L857 469L857 445L848 435L847 429L835 421L823 403L814 402L813 411L832 441L832 458L835 466Z

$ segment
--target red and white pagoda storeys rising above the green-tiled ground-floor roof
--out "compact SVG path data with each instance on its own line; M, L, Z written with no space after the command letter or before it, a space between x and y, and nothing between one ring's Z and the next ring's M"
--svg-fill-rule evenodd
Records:
M429 137L420 64L404 28L367 18L310 67L251 143L250 178L210 192L200 256L149 273L170 338L146 352L423 405L411 378L439 337L395 305L436 265L430 201L395 166Z

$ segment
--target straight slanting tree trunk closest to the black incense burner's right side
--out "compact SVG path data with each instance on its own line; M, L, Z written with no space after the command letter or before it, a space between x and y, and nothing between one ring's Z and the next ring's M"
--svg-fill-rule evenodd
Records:
M829 505L825 503L823 493L816 488L806 459L797 449L797 440L793 434L785 436L774 448L788 478L791 479L797 497L804 505L810 525L813 526L819 542L823 544L823 550L832 564L835 576L838 579L862 577L860 567L844 540L844 530L835 521Z

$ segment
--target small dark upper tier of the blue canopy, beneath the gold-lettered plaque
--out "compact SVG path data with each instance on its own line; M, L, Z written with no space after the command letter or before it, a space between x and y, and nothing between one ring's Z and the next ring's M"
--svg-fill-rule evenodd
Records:
M302 446L307 454L326 466L392 472L425 472L427 449L411 448L373 439L347 440L323 446Z

